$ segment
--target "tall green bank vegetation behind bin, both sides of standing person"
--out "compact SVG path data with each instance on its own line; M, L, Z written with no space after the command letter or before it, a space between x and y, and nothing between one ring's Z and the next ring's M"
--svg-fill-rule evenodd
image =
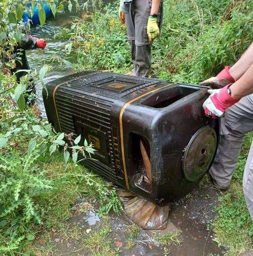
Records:
M126 73L133 66L118 6L77 20L77 67ZM152 47L151 75L199 83L231 65L253 40L250 0L165 0L162 35Z

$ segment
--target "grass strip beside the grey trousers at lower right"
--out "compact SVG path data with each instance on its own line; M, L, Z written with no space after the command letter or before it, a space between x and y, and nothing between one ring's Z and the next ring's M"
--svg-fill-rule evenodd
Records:
M226 256L237 256L241 252L253 249L253 222L242 190L244 166L252 139L253 133L248 133L229 190L219 197L220 204L215 209L215 241L219 246L227 248Z

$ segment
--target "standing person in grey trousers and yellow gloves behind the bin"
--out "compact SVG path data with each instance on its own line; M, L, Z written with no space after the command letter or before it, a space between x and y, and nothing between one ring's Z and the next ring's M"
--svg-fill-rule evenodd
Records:
M162 0L121 0L119 19L126 24L134 63L132 75L147 77L151 66L151 44L160 35Z

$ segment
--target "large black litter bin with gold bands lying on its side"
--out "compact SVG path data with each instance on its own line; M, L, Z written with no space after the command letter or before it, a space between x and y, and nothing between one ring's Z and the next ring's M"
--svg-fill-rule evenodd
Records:
M49 123L96 149L82 164L158 206L194 189L213 161L219 121L204 115L206 87L88 71L47 91Z

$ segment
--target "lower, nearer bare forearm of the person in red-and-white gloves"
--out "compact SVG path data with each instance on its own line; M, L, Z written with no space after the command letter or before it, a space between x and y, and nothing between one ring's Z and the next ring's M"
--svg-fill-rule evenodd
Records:
M253 93L253 64L247 71L230 86L231 96L240 99Z

